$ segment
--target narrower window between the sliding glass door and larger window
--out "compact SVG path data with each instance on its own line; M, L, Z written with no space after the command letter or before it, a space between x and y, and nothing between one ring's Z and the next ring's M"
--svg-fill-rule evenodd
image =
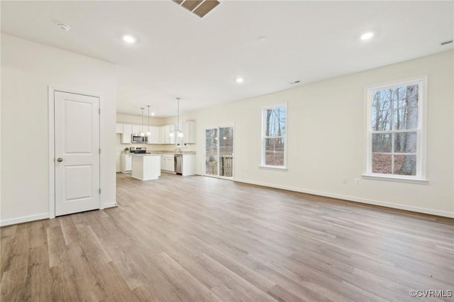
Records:
M262 167L286 168L287 105L262 109Z

